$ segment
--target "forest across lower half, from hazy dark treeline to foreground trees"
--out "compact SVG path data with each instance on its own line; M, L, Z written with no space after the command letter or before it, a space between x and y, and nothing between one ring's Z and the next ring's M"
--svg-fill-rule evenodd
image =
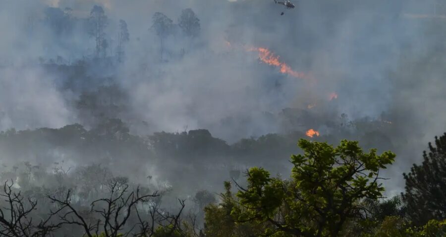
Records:
M39 144L44 139L46 145ZM30 162L3 164L0 233L8 237L446 235L446 133L429 143L422 163L402 174L405 191L393 197L384 196L380 180L385 177L380 171L397 159L394 153L365 152L355 141L341 140L333 146L306 139L298 140L298 151L292 141L271 134L229 146L204 129L156 133L143 139L130 135L119 120L90 131L79 124L8 130L0 134L2 150L19 150L22 156L27 150L49 149L46 146L76 148L82 151L76 156L87 160L96 157L98 150L112 155L74 168L64 168L64 160L54 162L50 171ZM203 182L212 176L206 167L216 166L222 158L225 162L228 158L265 160L262 156L290 150L298 153L290 155L289 177L272 176L262 167L232 167L221 182L221 193L203 189L186 197L187 191L177 188L186 185L180 179ZM126 153L132 153L133 159L125 159ZM167 177L169 182L151 183L152 175L129 179L111 170L129 161L164 163L166 157L179 166L162 171L173 174ZM273 162L263 165L274 167Z

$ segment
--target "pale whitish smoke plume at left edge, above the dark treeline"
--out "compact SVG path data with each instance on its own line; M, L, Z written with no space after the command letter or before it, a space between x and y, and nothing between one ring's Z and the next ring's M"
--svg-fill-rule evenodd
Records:
M61 127L73 122L53 83L40 68L0 68L0 130Z

